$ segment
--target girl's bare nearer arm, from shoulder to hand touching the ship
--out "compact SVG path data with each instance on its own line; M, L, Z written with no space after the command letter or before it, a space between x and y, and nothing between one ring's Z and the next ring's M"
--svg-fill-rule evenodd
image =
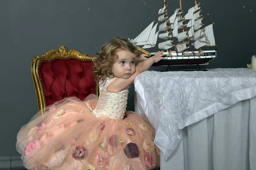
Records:
M159 62L162 59L166 59L163 56L166 54L163 54L163 51L158 51L153 57L150 57L148 59L145 59L144 61L140 62L138 65L136 65L136 71L134 74L131 75L128 79L122 79L122 78L116 78L109 86L108 91L115 93L122 91L123 89L127 88L129 85L131 85L132 82L134 82L134 79L142 72L147 71L148 68L151 67L152 64L155 62Z

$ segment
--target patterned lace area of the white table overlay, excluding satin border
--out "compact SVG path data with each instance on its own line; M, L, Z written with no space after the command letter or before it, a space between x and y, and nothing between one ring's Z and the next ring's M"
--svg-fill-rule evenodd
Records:
M178 125L189 116L215 103L228 102L234 92L256 89L256 70L145 71L136 78L135 86L137 81L154 108L161 130L172 139Z

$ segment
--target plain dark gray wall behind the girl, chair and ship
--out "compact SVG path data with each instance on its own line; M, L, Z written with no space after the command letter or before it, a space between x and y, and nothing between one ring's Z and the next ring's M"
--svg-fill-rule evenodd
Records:
M178 0L167 2L172 13ZM194 5L193 0L182 3L184 11ZM61 45L95 55L115 36L136 37L157 20L162 6L162 0L1 0L0 156L19 155L17 132L37 112L30 72L33 57ZM206 67L246 67L256 54L256 1L202 0L201 6L204 23L215 23L218 44L217 59ZM132 86L128 110L134 110L133 90Z

